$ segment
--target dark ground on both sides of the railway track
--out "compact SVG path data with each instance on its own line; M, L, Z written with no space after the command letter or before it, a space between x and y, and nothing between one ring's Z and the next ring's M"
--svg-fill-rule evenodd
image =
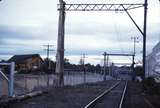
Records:
M76 86L52 88L47 94L8 104L0 108L84 108L105 89L117 81L89 83ZM160 96L147 95L141 83L128 82L123 108L151 108L145 101L151 102L154 108L160 108Z

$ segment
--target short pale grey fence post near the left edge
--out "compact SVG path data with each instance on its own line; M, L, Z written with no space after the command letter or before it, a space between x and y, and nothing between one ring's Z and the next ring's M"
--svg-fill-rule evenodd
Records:
M13 91L14 91L14 68L15 68L15 63L11 62L11 68L10 68L10 74L9 74L9 96L13 96Z

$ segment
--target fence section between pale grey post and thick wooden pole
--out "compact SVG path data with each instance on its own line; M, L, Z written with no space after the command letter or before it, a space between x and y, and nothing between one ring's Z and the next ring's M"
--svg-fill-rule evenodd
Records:
M54 75L15 75L14 94L23 95L53 86Z

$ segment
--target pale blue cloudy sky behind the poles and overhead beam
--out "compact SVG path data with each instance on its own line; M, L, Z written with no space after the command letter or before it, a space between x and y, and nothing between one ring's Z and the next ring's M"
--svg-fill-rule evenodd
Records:
M143 3L144 0L65 0L66 3ZM51 44L55 59L58 31L58 0L2 0L0 2L0 59L15 54L39 53L46 56L43 45ZM129 11L143 29L143 8ZM160 2L149 0L147 54L160 41ZM86 62L102 63L103 52L133 53L142 58L142 35L125 12L66 12L65 57L78 63L86 54ZM110 57L111 61L131 62L131 57Z

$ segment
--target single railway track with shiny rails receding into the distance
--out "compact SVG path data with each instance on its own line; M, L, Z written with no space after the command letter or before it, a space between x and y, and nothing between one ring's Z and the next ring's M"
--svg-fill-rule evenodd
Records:
M94 100L89 102L84 108L122 108L127 81L119 81Z

